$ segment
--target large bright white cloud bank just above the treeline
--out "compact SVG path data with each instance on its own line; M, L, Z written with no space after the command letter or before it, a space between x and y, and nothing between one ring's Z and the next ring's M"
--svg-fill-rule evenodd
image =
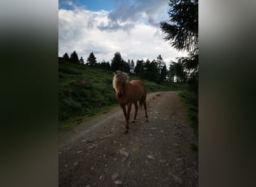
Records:
M162 55L164 61L175 60L183 52L171 48L162 38L159 27L145 24L139 19L112 20L109 11L91 11L76 7L74 10L58 10L58 55L76 51L84 59L91 52L98 62L111 62L115 52L121 52L124 60L141 58L153 60ZM144 13L144 18L147 14Z

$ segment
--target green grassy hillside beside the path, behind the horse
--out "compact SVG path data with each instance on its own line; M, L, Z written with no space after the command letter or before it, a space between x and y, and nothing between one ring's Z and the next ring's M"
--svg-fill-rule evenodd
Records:
M79 123L104 114L118 105L112 88L113 72L73 64L59 58L58 61L58 129L66 131ZM129 76L129 79L138 79ZM147 93L154 91L180 91L186 85L156 84L142 80Z

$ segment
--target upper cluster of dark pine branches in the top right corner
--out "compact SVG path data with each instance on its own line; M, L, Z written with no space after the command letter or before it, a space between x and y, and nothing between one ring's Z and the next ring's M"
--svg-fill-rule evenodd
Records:
M178 50L198 50L198 0L170 0L169 22L160 22L165 40Z

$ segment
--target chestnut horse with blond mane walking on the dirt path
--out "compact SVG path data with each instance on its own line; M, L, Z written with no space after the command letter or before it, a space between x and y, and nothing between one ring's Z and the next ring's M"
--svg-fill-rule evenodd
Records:
M134 123L136 120L138 105L140 108L142 108L142 105L144 105L146 121L148 121L146 104L147 92L143 82L140 80L132 80L129 82L127 73L117 70L114 73L113 88L115 89L115 98L123 109L124 117L126 119L124 134L127 134L129 129L129 114L132 109L132 103L135 105L135 115L133 117L132 123Z

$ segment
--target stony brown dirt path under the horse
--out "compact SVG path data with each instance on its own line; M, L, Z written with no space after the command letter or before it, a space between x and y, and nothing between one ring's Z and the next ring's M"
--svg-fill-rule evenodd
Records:
M178 92L147 96L127 135L121 108L60 135L59 186L198 186L198 144ZM134 107L132 106L132 119Z

